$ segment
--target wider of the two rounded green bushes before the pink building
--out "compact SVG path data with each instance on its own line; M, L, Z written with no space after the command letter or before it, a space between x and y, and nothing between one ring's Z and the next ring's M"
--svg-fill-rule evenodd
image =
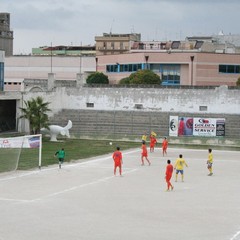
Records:
M161 84L160 77L151 70L138 70L128 78L120 80L119 84Z

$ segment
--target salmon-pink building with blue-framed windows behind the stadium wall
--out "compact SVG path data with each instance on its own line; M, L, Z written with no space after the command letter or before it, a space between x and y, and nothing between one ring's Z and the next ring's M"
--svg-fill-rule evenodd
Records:
M236 86L240 77L240 54L171 49L97 58L96 68L106 74L112 84L142 69L158 74L163 85Z

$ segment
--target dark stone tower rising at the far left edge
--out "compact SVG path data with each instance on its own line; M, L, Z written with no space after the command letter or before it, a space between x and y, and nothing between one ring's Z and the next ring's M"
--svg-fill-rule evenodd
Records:
M13 31L10 30L10 13L0 13L0 50L5 56L13 55Z

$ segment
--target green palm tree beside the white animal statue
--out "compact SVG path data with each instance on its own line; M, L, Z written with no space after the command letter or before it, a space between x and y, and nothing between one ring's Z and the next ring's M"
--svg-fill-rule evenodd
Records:
M42 97L32 98L24 101L26 108L20 108L22 115L20 118L28 119L31 134L40 133L41 128L49 128L49 119L47 112L51 111L48 108L49 102L43 102Z

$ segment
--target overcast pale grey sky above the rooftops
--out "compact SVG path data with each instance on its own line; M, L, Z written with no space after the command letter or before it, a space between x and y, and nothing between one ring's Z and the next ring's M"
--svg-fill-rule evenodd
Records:
M240 0L0 0L11 14L14 54L52 45L94 45L102 33L142 40L240 34Z

